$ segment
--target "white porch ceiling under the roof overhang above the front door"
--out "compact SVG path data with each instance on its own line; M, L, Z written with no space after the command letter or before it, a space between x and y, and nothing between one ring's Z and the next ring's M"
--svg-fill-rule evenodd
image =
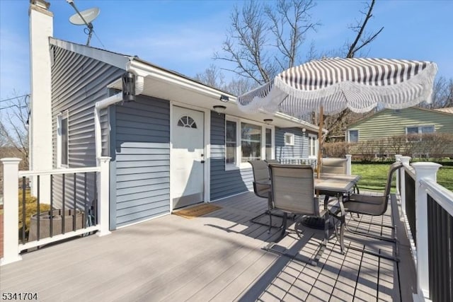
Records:
M122 89L122 81L118 79L109 85L109 88ZM283 115L281 113L268 114L266 112L258 112L256 114L244 113L239 110L236 103L236 97L229 95L229 102L225 103L219 100L222 91L212 93L212 91L202 91L193 86L185 83L179 83L173 79L161 79L153 76L146 76L144 78L144 91L142 95L148 95L154 98L161 98L163 100L173 100L182 105L195 106L198 108L205 108L212 110L214 105L224 105L226 107L225 114L241 117L247 120L256 122L263 122L264 119L273 119L273 125L276 127L300 127L306 128L309 131L317 132L318 127L300 122L294 117Z

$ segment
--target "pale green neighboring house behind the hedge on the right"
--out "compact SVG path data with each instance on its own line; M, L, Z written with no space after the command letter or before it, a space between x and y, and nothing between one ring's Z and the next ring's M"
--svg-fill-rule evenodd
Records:
M453 134L453 108L384 109L351 124L346 130L346 139L350 143L357 143L404 135L413 139L418 137L416 134L430 133ZM453 146L447 150L447 154L453 154Z

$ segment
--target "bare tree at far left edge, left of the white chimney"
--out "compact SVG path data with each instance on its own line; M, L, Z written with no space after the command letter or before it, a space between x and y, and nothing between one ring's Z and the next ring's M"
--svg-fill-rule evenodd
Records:
M28 167L28 116L30 95L16 96L0 104L0 143L21 153Z

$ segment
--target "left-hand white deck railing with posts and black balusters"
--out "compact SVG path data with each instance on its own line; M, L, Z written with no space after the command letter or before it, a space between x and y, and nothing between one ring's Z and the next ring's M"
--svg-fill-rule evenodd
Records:
M110 233L109 157L100 158L96 167L42 171L19 171L19 158L3 158L1 161L4 165L4 248L1 265L21 260L23 250L40 245L95 231L98 236ZM36 182L33 185L37 190L37 213L30 219L27 238L25 195L28 178ZM22 192L20 201L19 190ZM43 203L49 204L49 211L40 210ZM19 223L19 216L22 223Z

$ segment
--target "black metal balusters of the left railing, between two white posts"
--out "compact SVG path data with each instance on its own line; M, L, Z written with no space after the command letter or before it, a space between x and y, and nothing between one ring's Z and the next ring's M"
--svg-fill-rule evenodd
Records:
M44 176L36 176L35 197L28 193L28 178L23 176L21 180L22 221L19 225L19 240L23 244L88 228L98 223L96 172L45 176L50 179L50 200L42 200L44 188L41 178Z

